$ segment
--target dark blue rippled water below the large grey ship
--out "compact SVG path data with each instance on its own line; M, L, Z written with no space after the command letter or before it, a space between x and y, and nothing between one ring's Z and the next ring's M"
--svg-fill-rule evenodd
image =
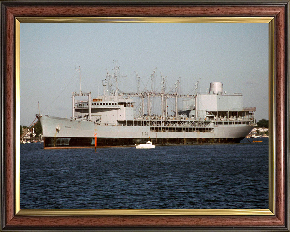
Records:
M259 140L97 153L21 144L21 208L268 208Z

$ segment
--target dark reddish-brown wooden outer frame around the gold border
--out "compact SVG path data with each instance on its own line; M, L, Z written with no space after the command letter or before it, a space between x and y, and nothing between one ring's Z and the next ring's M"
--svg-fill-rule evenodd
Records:
M1 230L289 231L289 1L1 0ZM21 215L15 212L15 18L274 17L275 214Z

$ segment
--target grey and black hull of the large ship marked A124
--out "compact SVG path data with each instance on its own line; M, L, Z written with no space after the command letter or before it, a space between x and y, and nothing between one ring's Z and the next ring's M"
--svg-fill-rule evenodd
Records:
M181 126L97 125L91 121L49 115L39 115L38 119L43 128L44 148L93 147L94 137L97 137L97 147L134 146L148 139L156 145L239 143L253 128L246 124L196 129Z

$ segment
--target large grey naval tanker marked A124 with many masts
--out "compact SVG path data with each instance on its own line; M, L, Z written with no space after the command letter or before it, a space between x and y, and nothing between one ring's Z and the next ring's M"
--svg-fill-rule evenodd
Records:
M125 93L118 89L118 69L116 65L112 75L107 71L102 81L103 95L91 98L91 92L82 92L81 88L72 93L71 118L36 114L43 128L44 149L93 147L95 137L97 147L134 146L147 140L156 145L239 143L255 124L256 108L243 108L242 94L227 94L221 82L211 82L208 92L201 94L198 80L194 94L181 95L179 79L173 91L166 92L162 76L160 92L152 88L140 91L136 73L138 91ZM151 87L155 72L151 74ZM76 100L76 96L87 99ZM161 105L160 114L151 112L153 98ZM169 98L175 100L173 115L167 112ZM180 109L178 102L182 102ZM139 114L134 115L134 109Z

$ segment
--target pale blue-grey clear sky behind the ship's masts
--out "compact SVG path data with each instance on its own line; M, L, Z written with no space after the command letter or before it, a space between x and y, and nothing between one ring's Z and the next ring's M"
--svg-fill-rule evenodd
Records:
M243 106L268 119L268 24L266 23L21 23L21 125L38 113L71 117L71 92L94 98L118 60L123 91L141 89L157 68L173 87L181 77L182 94L200 80L223 82L224 91L242 92ZM150 81L147 84L150 88Z

